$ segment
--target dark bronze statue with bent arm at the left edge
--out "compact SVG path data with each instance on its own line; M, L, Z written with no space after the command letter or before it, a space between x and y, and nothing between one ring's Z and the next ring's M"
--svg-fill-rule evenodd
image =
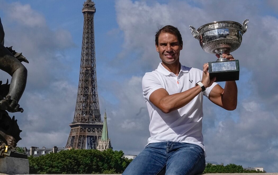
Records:
M0 81L0 156L15 155L16 143L21 140L17 120L8 112L23 112L18 101L26 86L27 69L21 63L29 63L22 53L4 47L4 29L0 18L0 69L12 76L11 84ZM8 111L8 112L7 112ZM27 156L26 156L27 157Z

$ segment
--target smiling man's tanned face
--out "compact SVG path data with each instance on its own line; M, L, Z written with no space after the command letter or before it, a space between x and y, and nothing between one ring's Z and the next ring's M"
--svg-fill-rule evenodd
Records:
M158 36L158 46L155 46L163 64L179 63L182 45L180 45L178 38L175 35L170 33L161 33Z

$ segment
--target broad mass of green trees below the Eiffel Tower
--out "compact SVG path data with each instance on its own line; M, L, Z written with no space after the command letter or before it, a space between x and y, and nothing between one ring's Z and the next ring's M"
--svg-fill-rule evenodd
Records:
M123 151L71 149L45 156L30 156L30 174L113 174L130 163Z

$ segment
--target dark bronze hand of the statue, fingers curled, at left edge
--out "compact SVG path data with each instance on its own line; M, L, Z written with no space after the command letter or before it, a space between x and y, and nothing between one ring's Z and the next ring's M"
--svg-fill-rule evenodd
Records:
M0 108L7 110L8 112L23 112L23 108L19 107L18 102L11 99L11 96L7 96L5 99L0 101Z

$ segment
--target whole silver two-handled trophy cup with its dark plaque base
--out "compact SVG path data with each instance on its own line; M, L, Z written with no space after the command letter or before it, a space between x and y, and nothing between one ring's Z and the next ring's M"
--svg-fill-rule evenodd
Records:
M222 54L239 48L242 35L248 27L247 23L248 19L245 19L242 25L234 21L215 21L197 30L189 26L192 35L200 41L205 52L220 56L216 61L209 62L210 78L216 77L216 82L239 80L239 60L227 60Z

